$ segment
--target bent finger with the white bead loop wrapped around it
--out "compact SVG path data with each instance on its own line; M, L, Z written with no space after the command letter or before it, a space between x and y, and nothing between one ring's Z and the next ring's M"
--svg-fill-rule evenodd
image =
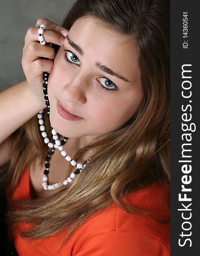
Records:
M39 42L38 36L39 36L38 28L36 27L29 28L25 35L25 48L32 41ZM60 46L63 46L64 37L60 35L58 32L51 31L49 29L44 29L43 37L46 42L51 42L53 44L58 44Z

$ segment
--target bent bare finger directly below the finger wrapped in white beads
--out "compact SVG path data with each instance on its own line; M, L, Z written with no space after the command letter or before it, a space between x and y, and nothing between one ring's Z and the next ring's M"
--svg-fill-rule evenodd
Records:
M31 42L23 51L22 64L30 65L39 57L53 60L55 58L55 51L47 45L41 45L37 42Z

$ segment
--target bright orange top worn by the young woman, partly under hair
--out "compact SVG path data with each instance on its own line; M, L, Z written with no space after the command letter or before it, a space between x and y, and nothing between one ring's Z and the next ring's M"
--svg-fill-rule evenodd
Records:
M169 221L169 194L160 201L163 185L159 182L126 196L129 203L151 210L154 217ZM15 189L11 200L30 199L29 168ZM29 228L20 223L17 230ZM47 227L48 228L48 227ZM60 251L62 233L46 239L24 239L14 232L14 244L20 256L169 256L170 226L148 217L131 215L111 204L94 213L72 234Z

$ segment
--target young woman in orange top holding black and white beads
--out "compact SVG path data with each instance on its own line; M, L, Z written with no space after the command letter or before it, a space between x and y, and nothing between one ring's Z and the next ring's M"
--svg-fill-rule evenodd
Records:
M77 0L22 65L0 94L17 253L168 256L169 1Z

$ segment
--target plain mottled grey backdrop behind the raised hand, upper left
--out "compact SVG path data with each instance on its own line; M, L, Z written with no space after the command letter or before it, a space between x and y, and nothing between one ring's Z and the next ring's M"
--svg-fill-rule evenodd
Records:
M24 37L40 17L61 24L75 0L0 0L0 92L25 80Z

